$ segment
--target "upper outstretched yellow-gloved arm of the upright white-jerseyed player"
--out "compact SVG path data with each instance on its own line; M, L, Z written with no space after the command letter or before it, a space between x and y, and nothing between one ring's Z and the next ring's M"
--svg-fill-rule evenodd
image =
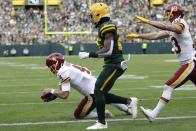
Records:
M182 33L182 31L184 30L184 25L178 22L172 24L165 21L151 21L141 16L135 16L135 18L138 23L149 24L162 30L168 30L176 33Z

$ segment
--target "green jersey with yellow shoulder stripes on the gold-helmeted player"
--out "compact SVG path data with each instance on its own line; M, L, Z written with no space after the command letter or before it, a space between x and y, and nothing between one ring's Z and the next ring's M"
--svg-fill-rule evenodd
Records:
M105 33L113 33L114 37L114 46L112 55L105 56L104 62L105 64L117 64L124 60L123 54L122 54L122 40L117 32L117 27L115 24L113 24L111 21L107 21L102 23L98 28L98 37L97 37L97 45L101 49L104 47L104 35Z

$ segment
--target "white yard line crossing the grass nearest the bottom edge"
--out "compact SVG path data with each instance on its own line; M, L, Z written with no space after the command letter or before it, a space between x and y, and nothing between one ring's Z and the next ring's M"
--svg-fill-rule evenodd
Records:
M174 117L158 117L157 120L180 120L180 119L196 119L196 116L174 116ZM145 118L131 119L107 119L109 122L116 121L144 121ZM24 123L1 123L2 126L29 126L29 125L50 125L50 124L71 124L71 123L89 123L96 120L72 120L72 121L42 121L42 122L24 122Z

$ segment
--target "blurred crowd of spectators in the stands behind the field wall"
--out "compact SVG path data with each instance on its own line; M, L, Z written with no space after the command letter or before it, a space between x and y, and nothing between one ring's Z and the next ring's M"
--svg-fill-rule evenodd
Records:
M148 33L156 31L147 25L138 25L135 15L153 20L165 20L164 5L152 7L149 0L92 0L106 2L111 7L111 18L119 27L125 39L127 33ZM190 25L193 39L196 40L196 1L166 0L166 4L177 3L185 10L185 19ZM165 4L165 5L166 5ZM48 6L49 32L90 31L88 0L66 0L59 6ZM0 0L0 44L45 44L45 43L91 43L96 31L88 35L45 35L44 10L40 7L26 8L13 6L11 0ZM168 40L163 40L168 41ZM140 42L136 40L134 42Z

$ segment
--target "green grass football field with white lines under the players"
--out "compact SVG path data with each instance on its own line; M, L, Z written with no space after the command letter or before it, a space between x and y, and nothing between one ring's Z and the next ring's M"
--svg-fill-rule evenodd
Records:
M65 57L98 75L103 61L79 60ZM153 108L162 85L179 67L174 55L133 55L126 73L111 92L121 96L136 96L139 106ZM58 81L45 68L45 57L0 58L0 131L84 131L95 120L76 121L75 107L82 96L72 90L67 100L43 103L40 99L45 87L57 87ZM132 120L123 112L108 105L115 117L108 122L109 131L196 131L196 88L187 83L176 90L171 102L158 120L149 123L139 111ZM14 124L15 123L15 124Z

